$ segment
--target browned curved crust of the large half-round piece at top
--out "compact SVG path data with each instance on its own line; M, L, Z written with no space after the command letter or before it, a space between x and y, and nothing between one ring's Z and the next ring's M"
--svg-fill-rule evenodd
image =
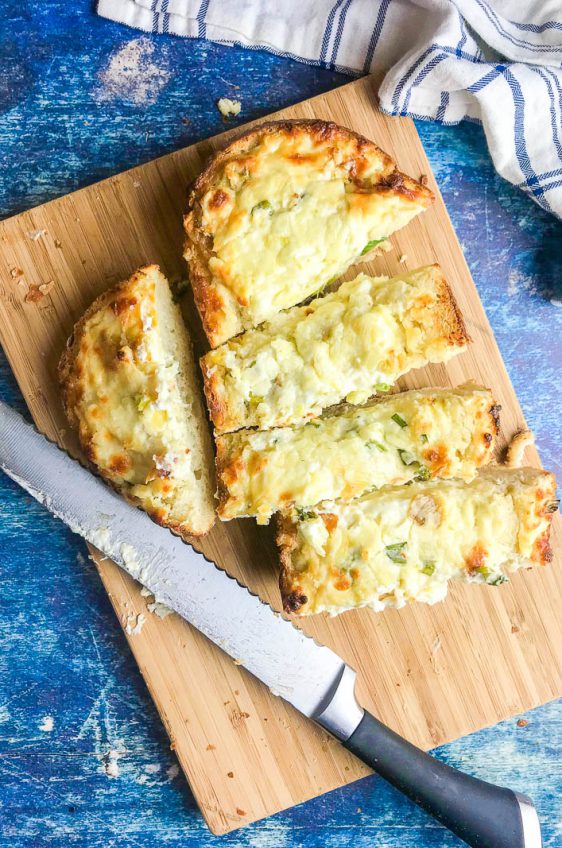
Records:
M229 337L228 335L225 337L223 332L228 304L213 285L213 276L209 270L209 261L213 256L213 239L202 226L201 199L216 184L227 162L248 153L260 143L264 136L273 133L293 137L299 133L306 134L315 143L330 143L334 148L337 148L338 144L345 142L349 145L351 142L354 150L354 165L350 176L351 182L357 186L358 191L379 194L399 193L426 207L434 200L433 193L426 186L399 171L394 160L374 142L335 123L318 119L269 121L245 132L224 150L216 153L197 177L190 192L188 212L184 217L186 233L184 257L189 269L195 303L212 347L216 347ZM377 174L378 182L374 184L372 180L367 183L361 179L361 163L366 160L366 157L369 159L378 157L382 163L380 173ZM362 256L361 261L372 259L386 248L386 245L375 248L364 257Z

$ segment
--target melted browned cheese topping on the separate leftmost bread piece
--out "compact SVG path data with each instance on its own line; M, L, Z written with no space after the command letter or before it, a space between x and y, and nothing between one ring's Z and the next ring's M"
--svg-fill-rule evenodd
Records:
M166 288L159 293L158 285ZM196 467L191 407L179 390L174 351L163 343L159 297L173 306L162 275L138 274L87 320L73 412L88 457L104 475L158 520L182 524L193 516L178 491L198 485L201 457Z

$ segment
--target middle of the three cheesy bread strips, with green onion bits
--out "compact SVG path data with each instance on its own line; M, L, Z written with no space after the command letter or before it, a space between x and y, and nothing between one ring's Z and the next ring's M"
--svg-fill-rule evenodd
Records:
M219 518L351 500L384 485L472 479L492 458L499 407L474 384L383 397L301 427L217 437Z

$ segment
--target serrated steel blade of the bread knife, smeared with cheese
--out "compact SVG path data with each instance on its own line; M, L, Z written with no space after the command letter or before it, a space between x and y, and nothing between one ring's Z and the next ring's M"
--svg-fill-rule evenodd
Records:
M344 663L333 651L124 501L3 403L0 467L300 712L312 716L341 678Z

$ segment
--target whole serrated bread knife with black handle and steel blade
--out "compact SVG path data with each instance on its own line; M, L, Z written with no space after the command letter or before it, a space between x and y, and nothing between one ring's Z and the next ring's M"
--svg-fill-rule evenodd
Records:
M420 751L364 711L355 673L127 504L0 401L0 468L71 530L474 848L540 848L532 801Z

